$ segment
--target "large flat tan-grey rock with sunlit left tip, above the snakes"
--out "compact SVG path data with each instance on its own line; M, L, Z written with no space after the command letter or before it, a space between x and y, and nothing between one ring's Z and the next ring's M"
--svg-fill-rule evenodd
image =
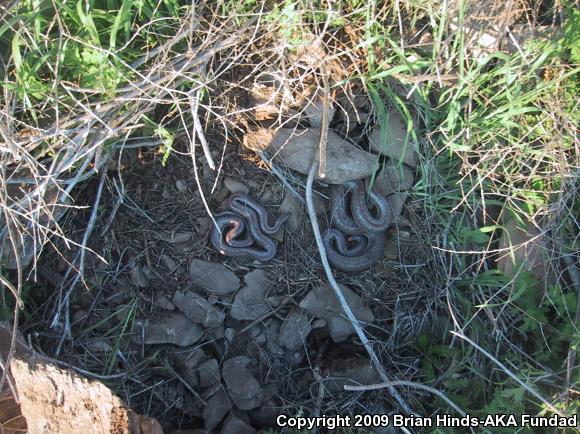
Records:
M306 130L260 129L244 136L244 146L252 150L275 155L286 166L307 174L318 151L320 129ZM328 132L326 143L325 182L343 184L353 179L369 176L375 166L376 157L341 139L333 131Z

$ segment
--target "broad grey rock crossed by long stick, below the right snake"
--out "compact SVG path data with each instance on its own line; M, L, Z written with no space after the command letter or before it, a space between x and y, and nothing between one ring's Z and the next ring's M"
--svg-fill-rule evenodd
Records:
M372 323L375 319L374 315L363 304L362 299L350 288L341 284L339 284L339 287L354 316L362 323ZM300 302L300 307L307 310L311 315L326 320L330 337L336 343L345 341L354 333L350 321L344 318L344 312L334 291L326 285L315 288L306 294Z

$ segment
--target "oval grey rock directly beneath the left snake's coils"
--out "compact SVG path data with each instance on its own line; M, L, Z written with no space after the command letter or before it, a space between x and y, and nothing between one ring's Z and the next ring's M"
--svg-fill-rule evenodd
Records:
M194 285L217 295L231 294L240 287L240 279L222 264L201 259L189 264L189 278Z

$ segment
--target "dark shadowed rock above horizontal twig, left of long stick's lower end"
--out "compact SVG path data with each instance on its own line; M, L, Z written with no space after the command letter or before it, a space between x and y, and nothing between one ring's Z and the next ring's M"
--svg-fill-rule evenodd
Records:
M359 386L381 382L381 377L370 360L360 358L332 360L327 378L326 387L332 393L344 391L347 384Z

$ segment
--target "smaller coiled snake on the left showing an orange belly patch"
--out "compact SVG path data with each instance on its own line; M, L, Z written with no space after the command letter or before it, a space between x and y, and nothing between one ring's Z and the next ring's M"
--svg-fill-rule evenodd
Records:
M277 242L271 238L288 219L282 214L273 225L264 205L237 193L227 201L229 210L214 216L217 225L210 233L212 245L226 256L246 256L269 261L276 255Z

